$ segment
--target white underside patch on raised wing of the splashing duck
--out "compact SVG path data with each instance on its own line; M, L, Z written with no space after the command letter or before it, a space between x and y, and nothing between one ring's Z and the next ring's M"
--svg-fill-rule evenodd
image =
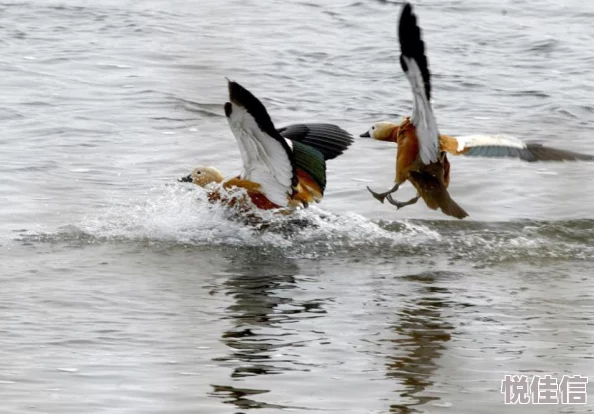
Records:
M293 180L289 154L280 142L258 127L245 108L232 105L227 120L243 161L241 178L260 184L262 193L274 204L287 206Z

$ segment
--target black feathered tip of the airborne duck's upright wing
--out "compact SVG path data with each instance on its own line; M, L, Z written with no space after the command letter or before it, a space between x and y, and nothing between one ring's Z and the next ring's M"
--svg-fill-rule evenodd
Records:
M398 38L400 39L400 65L404 72L408 72L408 66L402 58L414 59L421 70L427 100L431 101L431 80L429 64L425 56L425 43L421 38L421 28L417 25L417 16L412 11L410 3L406 3L400 14L398 24Z

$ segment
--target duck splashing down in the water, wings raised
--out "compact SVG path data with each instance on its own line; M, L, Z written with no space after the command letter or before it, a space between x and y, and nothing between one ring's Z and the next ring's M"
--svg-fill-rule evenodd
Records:
M345 130L331 124L295 124L275 128L266 108L250 91L228 81L225 116L237 139L243 169L225 180L214 167L198 167L180 179L201 187L211 183L246 190L259 209L307 207L322 200L326 161L341 155L353 142ZM209 187L211 188L211 187ZM212 189L211 201L224 200Z

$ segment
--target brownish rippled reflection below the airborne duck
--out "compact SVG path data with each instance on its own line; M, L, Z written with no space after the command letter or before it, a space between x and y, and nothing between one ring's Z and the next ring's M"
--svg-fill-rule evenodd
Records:
M390 412L421 412L413 407L439 399L425 395L425 391L433 385L436 360L445 350L453 329L443 312L451 306L443 299L450 292L434 284L440 276L440 272L432 272L405 278L421 286L418 295L406 301L398 312L398 321L391 327L397 337L391 340L395 355L387 357L387 376L397 379L403 389L399 390L398 403L390 406Z

